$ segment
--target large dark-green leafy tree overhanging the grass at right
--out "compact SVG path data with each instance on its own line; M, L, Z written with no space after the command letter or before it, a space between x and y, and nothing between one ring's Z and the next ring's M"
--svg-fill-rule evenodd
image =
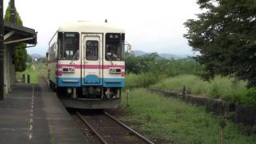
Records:
M234 76L256 86L256 1L198 0L202 9L189 19L184 37L204 66L202 77Z

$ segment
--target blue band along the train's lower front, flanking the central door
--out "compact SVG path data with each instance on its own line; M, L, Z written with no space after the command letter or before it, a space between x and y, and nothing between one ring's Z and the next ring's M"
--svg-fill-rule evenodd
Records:
M85 79L85 78L82 78ZM103 86L103 87L124 87L125 86L125 78L99 78L100 84L82 84L81 78L57 78L58 86Z

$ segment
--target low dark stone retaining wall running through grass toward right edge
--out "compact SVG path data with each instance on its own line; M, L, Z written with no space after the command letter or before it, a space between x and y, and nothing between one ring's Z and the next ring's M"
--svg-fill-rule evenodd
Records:
M173 90L162 90L150 88L151 91L164 94L166 97L182 98L185 102L196 106L205 106L207 112L222 115L230 118L234 123L242 123L243 126L249 126L250 133L256 132L256 108L252 106L243 106L242 104L227 102L221 99L211 99L200 97L193 94L182 94Z

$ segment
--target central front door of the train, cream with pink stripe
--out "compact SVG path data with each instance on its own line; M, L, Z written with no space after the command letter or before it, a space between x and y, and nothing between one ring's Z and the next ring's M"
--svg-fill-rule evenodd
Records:
M102 85L102 34L82 34L82 85Z

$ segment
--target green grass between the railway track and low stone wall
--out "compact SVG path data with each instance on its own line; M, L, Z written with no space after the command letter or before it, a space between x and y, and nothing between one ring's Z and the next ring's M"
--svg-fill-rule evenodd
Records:
M130 91L129 107L125 94L122 107L129 115L122 120L146 134L151 140L172 143L220 143L219 122L222 117L207 114L200 106L192 106L174 98L165 98L146 89ZM225 143L254 143L256 136L245 136L239 126L227 121Z

